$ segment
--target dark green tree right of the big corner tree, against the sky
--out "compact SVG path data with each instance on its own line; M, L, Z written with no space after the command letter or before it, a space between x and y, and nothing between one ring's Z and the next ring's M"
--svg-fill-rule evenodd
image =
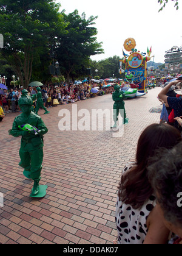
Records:
M60 63L61 73L69 82L70 77L75 73L80 76L86 74L86 68L91 55L101 54L104 50L101 48L102 43L96 41L97 29L93 27L97 17L90 16L86 20L86 14L81 16L78 10L66 15L62 11L64 21L69 23L67 34L58 38L58 48L56 55Z

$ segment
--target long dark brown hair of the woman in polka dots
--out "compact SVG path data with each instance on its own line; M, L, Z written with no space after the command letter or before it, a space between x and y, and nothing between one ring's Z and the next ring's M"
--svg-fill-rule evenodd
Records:
M136 165L121 176L118 187L120 201L140 208L153 193L147 177L147 162L158 148L170 149L181 141L180 132L169 124L148 126L141 133L136 149Z

